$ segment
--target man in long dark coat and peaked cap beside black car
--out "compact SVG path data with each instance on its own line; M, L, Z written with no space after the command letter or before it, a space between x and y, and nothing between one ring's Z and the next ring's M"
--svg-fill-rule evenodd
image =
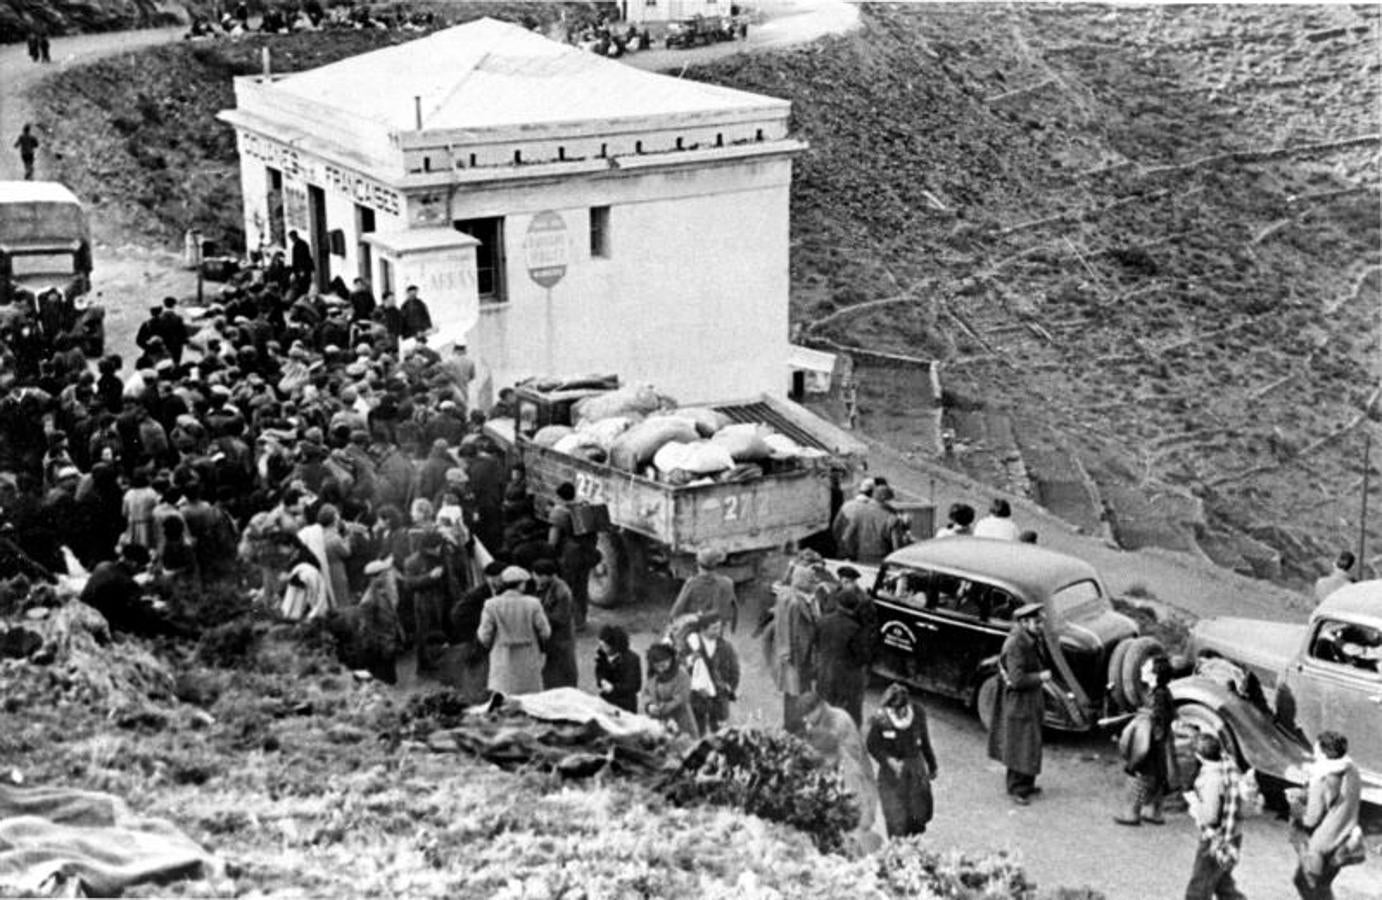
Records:
M1050 680L1036 653L1042 635L1042 604L1028 603L1013 612L1013 629L998 659L998 706L988 733L988 758L1007 766L1007 794L1021 806L1039 794L1042 688Z

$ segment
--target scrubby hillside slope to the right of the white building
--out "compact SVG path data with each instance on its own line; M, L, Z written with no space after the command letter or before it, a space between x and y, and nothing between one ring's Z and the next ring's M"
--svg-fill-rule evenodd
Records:
M795 318L941 358L1019 449L1082 462L1125 546L1303 579L1354 541L1361 434L1335 433L1378 420L1376 8L865 22L695 72L791 98L811 141Z

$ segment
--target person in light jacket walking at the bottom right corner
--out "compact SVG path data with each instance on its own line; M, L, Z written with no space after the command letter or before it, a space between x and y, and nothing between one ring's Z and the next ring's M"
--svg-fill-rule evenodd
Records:
M1334 879L1341 867L1339 852L1359 827L1361 778L1349 759L1349 738L1338 731L1321 731L1314 742L1314 763L1303 792L1294 791L1291 842L1300 861L1295 889L1302 900L1334 900Z

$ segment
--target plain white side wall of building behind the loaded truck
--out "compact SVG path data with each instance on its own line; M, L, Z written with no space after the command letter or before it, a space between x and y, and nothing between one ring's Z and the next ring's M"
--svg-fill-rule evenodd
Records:
M778 159L457 196L453 218L506 216L507 303L482 307L473 355L496 388L616 372L683 401L785 395L789 181ZM591 259L589 210L604 205L609 259ZM550 290L525 252L543 210L569 250Z

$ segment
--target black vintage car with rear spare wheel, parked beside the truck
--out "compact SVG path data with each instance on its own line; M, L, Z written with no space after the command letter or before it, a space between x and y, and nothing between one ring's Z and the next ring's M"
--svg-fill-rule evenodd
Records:
M871 574L875 672L966 701L981 716L998 690L996 657L1013 612L1027 603L1046 607L1049 727L1086 731L1101 716L1135 708L1144 691L1142 665L1165 653L1114 611L1092 565L1045 547L937 538L893 553Z

